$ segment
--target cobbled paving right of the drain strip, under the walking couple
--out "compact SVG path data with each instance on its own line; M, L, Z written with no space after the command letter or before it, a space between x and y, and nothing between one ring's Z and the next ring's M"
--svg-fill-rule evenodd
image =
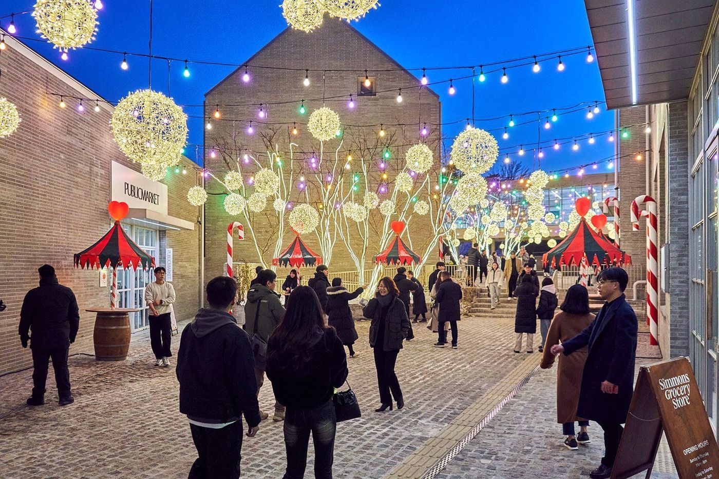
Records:
M654 361L638 360L638 363ZM604 455L602 428L590 422L589 445L580 445L576 451L564 447L562 425L556 421L556 388L556 366L539 370L436 479L589 477ZM668 453L666 444L664 449ZM660 462L655 462L654 471L661 469ZM633 477L645 476L646 473L641 473ZM653 472L651 477L679 476Z

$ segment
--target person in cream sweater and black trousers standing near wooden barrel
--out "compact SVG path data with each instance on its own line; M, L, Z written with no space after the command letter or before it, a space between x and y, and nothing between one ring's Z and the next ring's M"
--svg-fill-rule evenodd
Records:
M172 312L175 288L165 281L165 268L155 268L155 281L145 287L145 302L150 308L150 346L155 366L170 366L170 341L173 338Z

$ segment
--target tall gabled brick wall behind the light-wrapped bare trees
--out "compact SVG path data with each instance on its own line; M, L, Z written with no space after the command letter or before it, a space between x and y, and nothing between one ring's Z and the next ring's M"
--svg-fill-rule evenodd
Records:
M383 70L387 68L397 68L398 65L389 57L377 50L362 35L350 27L347 22L325 22L319 31L313 32L311 35L303 34L296 30L288 29L277 38L270 42L265 48L257 52L255 57L249 60L250 63L256 65L283 65L285 67L294 68L368 68L369 75L375 77L377 90L386 90L388 88L403 88L408 86L416 86L418 81L412 75L404 71L373 73L372 70ZM205 152L206 166L214 170L218 175L223 176L228 167L226 161L236 163L239 157L242 157L245 149L247 151L266 152L265 141L271 136L270 131L275 131L272 144L277 144L283 158L289 157L288 144L293 141L296 146L293 147L293 158L295 168L295 177L300 175L311 175L308 169L306 159L311 156L311 152L319 154L319 142L315 141L311 134L307 131L306 122L310 113L316 108L322 106L321 100L310 100L311 98L322 98L332 96L343 96L341 99L329 99L326 106L336 111L340 120L344 125L344 136L340 154L346 157L351 153L354 157L353 164L357 164L360 154L366 157L370 171L371 181L369 190L375 191L380 181L381 172L377 168L380 163L380 155L385 145L393 145L391 148L392 157L387 162L388 180L393 180L397 172L402 169L405 164L404 152L406 149L418 142L418 120L427 122L430 134L426 140L428 145L434 149L435 162L439 164L439 139L441 138L441 130L439 126L434 124L441 123L441 109L439 98L429 90L423 89L421 93L416 88L411 90L403 90L403 102L397 103L396 90L392 93L378 93L377 96L357 97L357 78L361 76L364 79L364 73L356 72L327 72L324 75L324 81L321 73L310 73L311 84L303 86L305 72L303 70L296 72L288 72L282 70L262 70L250 68L252 80L249 83L242 81L244 68L240 68L219 85L216 85L206 95L206 117L211 118L211 130L206 130L206 147ZM349 94L354 95L354 101L357 106L350 110L347 108ZM300 103L290 103L287 105L270 105L264 106L263 109L268 111L269 115L265 121L273 125L262 125L260 118L257 116L260 103L273 103L275 101L286 101L288 99L305 98L305 107L307 113L301 116L298 113ZM212 118L216 106L219 105L222 118L224 121L215 121ZM235 106L232 106L235 105ZM244 105L244 106L237 106ZM420 115L421 112L421 115ZM230 120L235 121L230 121ZM246 133L247 122L237 121L241 119L253 120L255 127L255 135L249 136ZM289 124L287 125L287 123ZM300 134L292 136L292 122L296 122ZM285 123L285 125L278 125ZM378 136L379 126L373 129L360 129L356 126L369 124L384 124L387 135L384 138ZM431 124L431 125L430 125ZM265 137L265 141L262 137ZM334 156L334 150L340 146L338 140L326 141L325 157ZM211 147L219 147L219 154L216 158L210 157ZM227 148L230 147L230 148ZM329 154L328 154L329 151ZM298 153L299 152L299 153ZM304 152L305 154L303 154ZM267 164L266 157L260 157L263 166ZM242 166L242 163L241 163ZM288 167L285 162L284 168ZM340 163L340 168L344 167L344 162ZM257 166L253 165L247 169L245 177L257 171ZM349 169L348 172L354 172ZM243 173L246 169L243 167ZM323 172L325 175L327 171ZM336 175L339 176L339 175ZM436 175L433 175L436 184ZM295 182L297 184L298 180ZM355 195L355 201L362 203L365 185L360 185L360 190ZM246 224L245 218L240 216L231 217L223 208L225 197L224 187L214 180L208 180L207 190L210 198L205 205L206 214L206 281L213 276L222 273L222 265L226 261L226 228L232 220L239 220ZM388 192L392 191L390 184ZM252 192L249 188L247 195ZM304 194L300 194L295 189L295 195L290 197L293 203L305 203ZM421 199L426 199L429 193L423 190ZM380 195L380 200L383 195ZM385 195L388 197L389 195ZM311 194L317 197L317 193ZM272 199L268 201L267 210L264 213L253 215L252 223L255 225L255 234L262 248L262 259L265 264L270 264L273 258L273 246L275 244L274 232L278 222L278 215L272 208ZM426 244L429 243L430 237L423 235L422 231L426 231L427 217L415 217L411 220L409 228L412 231L413 245L412 247L419 254L422 254ZM396 219L393 218L393 219ZM372 212L371 225L377 225L381 220L379 213L375 210ZM287 215L285 215L285 224ZM255 246L252 243L248 228L245 228L246 239L242 242L235 241L234 256L235 259L246 259L249 262L257 262L259 260ZM354 233L356 234L356 233ZM285 244L291 239L291 233L285 230ZM367 248L367 266L370 267L372 256L377 254L378 236L376 230L370 227L370 246ZM319 254L319 245L316 236L310 234L303 236L308 246L313 248ZM248 241L249 240L249 241ZM435 250L436 251L436 250ZM430 261L434 261L436 253L431 255ZM336 238L333 247L333 256L331 259L331 271L349 271L354 270L354 262L350 258L349 251L344 246L341 238ZM283 273L280 273L283 274Z

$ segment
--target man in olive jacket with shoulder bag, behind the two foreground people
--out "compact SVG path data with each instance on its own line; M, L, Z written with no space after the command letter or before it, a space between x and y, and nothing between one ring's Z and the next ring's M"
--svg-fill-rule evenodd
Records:
M244 304L244 330L252 343L255 353L255 378L257 378L257 395L260 394L262 383L265 382L265 367L267 366L267 340L270 339L275 327L285 314L285 308L280 303L280 297L275 294L277 274L271 269L263 269L257 274L255 283L247 292L247 302ZM262 419L269 414L260 411ZM275 414L273 421L285 419L285 406L275 398Z

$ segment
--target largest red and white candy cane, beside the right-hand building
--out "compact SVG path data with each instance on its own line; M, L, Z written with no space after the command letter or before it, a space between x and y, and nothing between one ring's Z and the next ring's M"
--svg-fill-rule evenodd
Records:
M639 211L644 203L646 210ZM659 310L659 263L657 256L656 235L656 200L649 195L640 195L631 203L631 224L633 231L639 231L639 218L646 216L646 321L649 324L649 344L658 345Z

